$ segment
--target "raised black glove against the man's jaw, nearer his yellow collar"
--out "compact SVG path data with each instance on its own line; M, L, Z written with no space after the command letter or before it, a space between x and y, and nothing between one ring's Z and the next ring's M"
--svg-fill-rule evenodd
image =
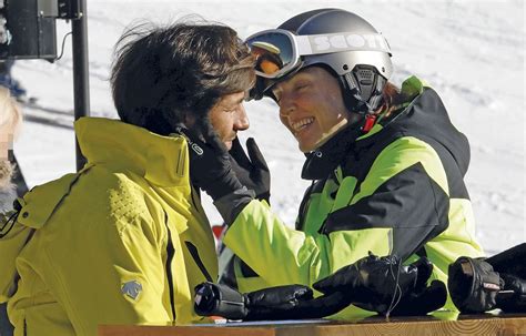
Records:
M189 143L190 177L195 186L214 201L243 187L232 171L226 147L215 132L209 132L206 142L184 125L179 125L176 132Z

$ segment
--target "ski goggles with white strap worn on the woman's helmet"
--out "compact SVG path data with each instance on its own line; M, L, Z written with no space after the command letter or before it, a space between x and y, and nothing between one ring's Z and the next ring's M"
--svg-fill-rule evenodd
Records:
M390 44L380 33L295 35L287 30L271 29L249 37L245 42L255 59L255 73L273 80L296 70L305 55L344 51L381 51L391 55Z

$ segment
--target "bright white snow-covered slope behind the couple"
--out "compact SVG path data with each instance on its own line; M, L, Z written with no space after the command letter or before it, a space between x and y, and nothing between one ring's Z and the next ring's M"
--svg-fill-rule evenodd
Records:
M425 79L442 95L451 118L472 144L466 181L488 254L526 241L525 226L525 4L510 1L138 1L89 0L90 90L93 115L117 118L109 89L112 48L138 19L168 23L186 14L224 22L241 37L275 28L315 8L336 7L370 20L390 41L401 83ZM59 41L70 29L59 24ZM74 170L71 39L55 63L19 61L13 74L39 98L26 109L16 143L30 186ZM254 136L272 172L272 204L294 223L304 189L303 155L280 124L270 100L246 104L252 122L242 139ZM210 200L206 208L220 223Z

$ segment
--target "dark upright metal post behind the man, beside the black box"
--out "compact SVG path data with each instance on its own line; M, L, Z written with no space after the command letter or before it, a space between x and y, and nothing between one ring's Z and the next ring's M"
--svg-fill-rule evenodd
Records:
M87 0L80 0L81 17L71 21L73 38L73 94L74 120L90 115L90 74L88 60ZM85 157L80 152L75 138L77 171L84 166Z

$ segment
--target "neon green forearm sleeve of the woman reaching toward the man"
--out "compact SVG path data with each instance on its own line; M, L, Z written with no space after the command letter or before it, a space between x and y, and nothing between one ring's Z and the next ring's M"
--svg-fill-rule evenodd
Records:
M312 285L337 268L390 251L391 228L306 234L285 226L259 201L252 201L226 232L225 244L272 285Z

